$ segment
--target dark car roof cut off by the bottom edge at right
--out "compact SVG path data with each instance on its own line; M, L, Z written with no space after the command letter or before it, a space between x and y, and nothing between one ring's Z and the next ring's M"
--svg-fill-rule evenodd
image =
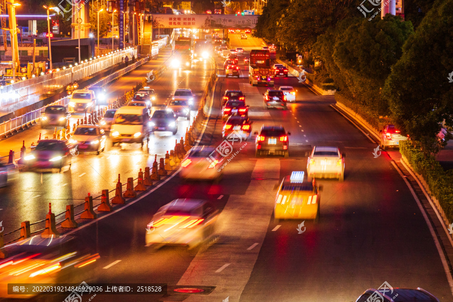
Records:
M396 288L385 287L369 288L362 293L355 302L440 302L432 293L423 288Z

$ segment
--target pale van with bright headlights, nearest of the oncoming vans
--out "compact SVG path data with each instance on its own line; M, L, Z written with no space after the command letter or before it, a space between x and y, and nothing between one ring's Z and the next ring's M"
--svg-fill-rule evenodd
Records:
M146 107L124 106L116 110L110 129L112 146L115 143L143 143L151 131Z

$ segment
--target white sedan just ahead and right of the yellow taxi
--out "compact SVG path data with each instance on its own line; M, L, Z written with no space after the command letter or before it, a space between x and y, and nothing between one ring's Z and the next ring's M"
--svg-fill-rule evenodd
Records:
M315 146L307 160L307 174L313 178L344 180L344 158L338 147Z

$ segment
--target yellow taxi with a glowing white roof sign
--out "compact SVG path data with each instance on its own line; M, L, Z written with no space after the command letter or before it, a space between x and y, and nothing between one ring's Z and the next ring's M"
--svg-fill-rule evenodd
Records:
M319 221L320 191L315 180L307 181L304 171L293 171L280 183L273 217L279 219L313 219Z

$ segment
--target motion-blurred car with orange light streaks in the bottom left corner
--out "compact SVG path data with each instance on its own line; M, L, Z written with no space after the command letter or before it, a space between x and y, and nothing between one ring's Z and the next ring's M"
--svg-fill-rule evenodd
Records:
M8 258L0 260L0 297L29 298L34 294L8 294L8 283L78 283L94 269L99 254L80 247L77 239L40 235L5 246Z

